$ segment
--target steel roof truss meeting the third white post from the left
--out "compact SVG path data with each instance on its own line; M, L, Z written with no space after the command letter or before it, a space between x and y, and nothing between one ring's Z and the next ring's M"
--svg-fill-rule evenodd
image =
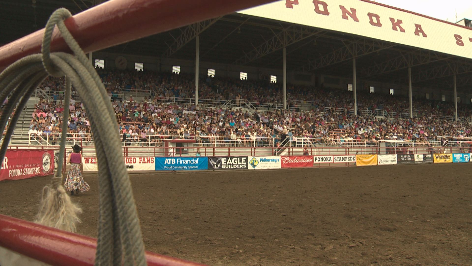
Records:
M299 67L295 71L298 72L310 72L323 67L327 67L336 63L345 62L352 60L356 57L367 55L370 53L378 52L384 49L394 47L396 44L390 44L383 41L359 39L354 41L345 42L343 47L325 54L313 61L309 61L307 64Z

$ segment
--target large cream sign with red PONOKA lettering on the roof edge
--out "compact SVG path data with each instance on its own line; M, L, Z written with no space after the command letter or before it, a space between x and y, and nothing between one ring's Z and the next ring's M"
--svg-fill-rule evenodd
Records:
M370 1L282 0L239 13L472 58L472 29Z

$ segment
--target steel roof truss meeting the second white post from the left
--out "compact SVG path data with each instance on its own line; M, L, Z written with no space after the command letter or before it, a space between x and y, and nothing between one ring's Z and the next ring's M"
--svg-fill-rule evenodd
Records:
M265 41L263 44L254 47L254 49L250 52L244 53L244 56L233 62L233 64L245 65L265 55L280 50L283 47L287 47L290 44L295 44L296 42L299 42L313 35L319 35L322 32L322 30L311 27L299 25L288 26L281 32L274 35L269 40Z

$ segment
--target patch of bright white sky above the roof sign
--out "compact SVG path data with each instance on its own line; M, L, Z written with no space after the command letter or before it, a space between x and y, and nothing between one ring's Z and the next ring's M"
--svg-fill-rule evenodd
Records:
M422 15L457 22L463 18L472 19L471 0L375 0L378 3L406 9ZM457 21L455 20L457 10Z

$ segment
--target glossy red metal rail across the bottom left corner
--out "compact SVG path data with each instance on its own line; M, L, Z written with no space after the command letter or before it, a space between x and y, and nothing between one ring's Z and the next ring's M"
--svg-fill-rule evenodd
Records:
M97 240L0 214L0 246L51 264L90 266ZM146 252L149 266L198 266L201 264Z

